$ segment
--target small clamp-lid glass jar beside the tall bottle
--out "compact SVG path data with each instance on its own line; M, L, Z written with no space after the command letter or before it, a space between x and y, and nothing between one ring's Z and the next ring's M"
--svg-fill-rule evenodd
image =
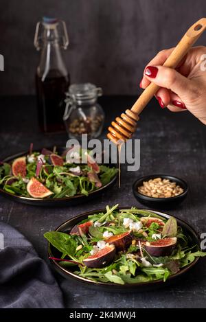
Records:
M98 137L104 125L104 111L98 104L102 89L91 83L72 84L66 94L64 121L71 139L81 139L87 134L88 139Z

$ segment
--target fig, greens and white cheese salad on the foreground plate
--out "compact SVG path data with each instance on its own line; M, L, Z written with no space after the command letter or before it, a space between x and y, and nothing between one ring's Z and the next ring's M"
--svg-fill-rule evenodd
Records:
M49 231L45 238L60 252L60 266L95 282L134 284L166 281L206 253L197 251L176 219L153 212L106 207L69 233Z

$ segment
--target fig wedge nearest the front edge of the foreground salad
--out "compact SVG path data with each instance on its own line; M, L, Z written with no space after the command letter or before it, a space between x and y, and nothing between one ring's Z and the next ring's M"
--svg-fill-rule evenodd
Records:
M91 268L102 268L108 266L113 259L115 258L115 246L109 245L104 247L104 249L100 249L94 255L90 255L89 257L83 260L84 265Z

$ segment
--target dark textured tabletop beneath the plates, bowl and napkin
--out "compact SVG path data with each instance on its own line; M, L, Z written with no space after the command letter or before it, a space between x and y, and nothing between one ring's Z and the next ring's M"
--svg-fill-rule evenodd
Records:
M131 106L135 97L102 97L106 125L121 111ZM61 145L67 135L43 135L38 131L35 97L1 97L1 154L0 159L25 150ZM102 137L106 134L106 127ZM43 208L21 205L0 197L0 217L30 240L38 254L47 260L45 231L56 228L68 218L106 205L141 207L132 193L135 178L144 174L166 173L185 179L190 192L178 209L170 210L198 231L206 231L206 126L190 113L170 113L152 101L141 115L136 138L141 139L141 167L138 172L122 173L122 187L111 188L100 199L76 207ZM87 286L58 278L68 308L192 308L205 307L206 261L203 259L178 284L152 292L113 294L88 289Z

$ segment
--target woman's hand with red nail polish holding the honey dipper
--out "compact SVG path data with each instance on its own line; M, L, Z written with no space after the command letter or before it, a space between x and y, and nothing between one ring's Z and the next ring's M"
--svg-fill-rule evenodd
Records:
M161 87L155 95L161 108L188 110L206 124L206 47L190 49L176 69L163 67L173 49L159 51L145 68L139 86L146 89L154 82Z

